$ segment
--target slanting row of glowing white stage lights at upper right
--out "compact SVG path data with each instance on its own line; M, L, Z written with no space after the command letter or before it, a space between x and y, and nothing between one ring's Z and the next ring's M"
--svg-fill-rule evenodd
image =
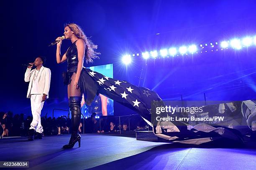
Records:
M220 46L220 50L223 49L228 49L228 48L233 48L236 50L240 50L241 48L248 48L249 46L256 46L256 36L254 37L250 37L247 36L245 38L242 39L238 39L238 38L234 38L232 40L229 41L222 41L219 45L218 42L215 43L209 43L209 44L200 44L200 45L189 45L189 46L181 46L179 48L176 47L171 47L169 49L164 48L161 49L159 51L154 50L154 51L145 51L143 53L136 53L136 54L126 54L122 57L122 61L124 64L129 64L132 61L132 56L142 56L144 59L149 59L149 58L158 58L159 56L165 58L169 58L169 57L174 57L174 56L183 56L183 55L188 55L188 54L195 54L195 53L203 53L203 52L207 52L207 50L205 50L206 47L210 47L212 49L210 49L210 51L218 51L217 49L213 49L213 47L218 47ZM200 49L200 51L198 50ZM160 58L161 58L160 57Z

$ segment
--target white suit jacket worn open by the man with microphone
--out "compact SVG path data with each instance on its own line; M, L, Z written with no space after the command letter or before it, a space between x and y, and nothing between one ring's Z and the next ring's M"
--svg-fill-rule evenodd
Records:
M28 85L28 93L27 93L27 98L31 98L31 87L32 87L32 80L34 77L34 74L36 73L36 69L28 69L26 70L25 73L25 81L29 82ZM38 84L39 84L39 91L40 94L47 94L47 99L49 98L49 90L50 90L50 83L51 83L51 70L42 66L40 69L39 73L39 78L38 78Z

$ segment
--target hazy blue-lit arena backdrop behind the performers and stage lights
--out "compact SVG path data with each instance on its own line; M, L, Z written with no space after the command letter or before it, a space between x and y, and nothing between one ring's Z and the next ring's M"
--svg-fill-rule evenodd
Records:
M114 64L114 78L155 90L166 100L246 100L256 98L256 46L241 51L200 53L173 59L134 58L127 68L125 53L164 47L210 43L256 35L255 1L205 0L84 0L8 1L1 4L0 111L31 114L26 99L26 68L21 63L46 56L51 89L42 115L67 109L67 89L57 64L56 47L48 47L64 32L64 24L80 25L102 54L85 66ZM160 33L156 35L156 33ZM62 53L70 41L62 43ZM141 69L143 71L141 72ZM140 78L141 82L139 81ZM140 83L139 83L140 82ZM133 114L114 104L115 115ZM62 113L58 113L62 114Z

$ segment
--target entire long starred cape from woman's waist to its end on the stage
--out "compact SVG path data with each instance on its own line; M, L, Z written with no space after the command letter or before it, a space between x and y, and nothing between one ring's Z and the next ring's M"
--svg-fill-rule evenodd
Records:
M72 71L76 72L76 69L74 68ZM211 142L214 140L213 137L243 142L236 129L226 127L212 127L207 124L197 124L192 127L178 121L159 121L152 124L151 113L155 112L155 107L160 107L164 103L156 92L145 87L135 86L127 81L112 79L84 67L80 74L78 85L85 96L87 105L92 103L95 95L103 94L136 111L153 127L154 134L163 139L197 145ZM224 134L229 135L225 137Z

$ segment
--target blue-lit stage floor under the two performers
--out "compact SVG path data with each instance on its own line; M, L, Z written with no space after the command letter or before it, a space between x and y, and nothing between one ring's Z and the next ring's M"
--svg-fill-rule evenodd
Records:
M61 149L68 141L69 135L34 141L2 139L0 161L29 161L29 169L34 170L252 170L256 162L254 144L245 148L192 147L110 134L83 134L80 148L77 143L73 149Z

